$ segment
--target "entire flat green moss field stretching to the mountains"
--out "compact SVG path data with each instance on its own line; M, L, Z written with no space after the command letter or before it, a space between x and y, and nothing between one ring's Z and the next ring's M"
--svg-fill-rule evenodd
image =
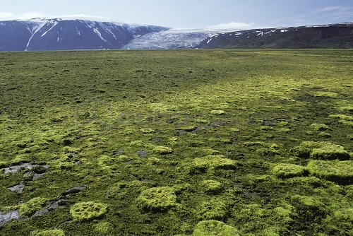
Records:
M353 235L353 50L0 53L0 235Z

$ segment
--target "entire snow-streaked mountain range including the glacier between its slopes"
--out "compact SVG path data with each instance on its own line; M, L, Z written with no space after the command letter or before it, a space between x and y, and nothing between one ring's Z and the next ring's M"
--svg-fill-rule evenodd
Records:
M0 21L0 51L180 48L353 48L353 23L256 30L176 30L67 18Z

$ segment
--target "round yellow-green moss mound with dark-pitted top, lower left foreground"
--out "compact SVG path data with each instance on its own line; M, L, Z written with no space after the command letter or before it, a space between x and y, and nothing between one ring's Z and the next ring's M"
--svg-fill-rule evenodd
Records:
M71 206L70 213L73 221L90 221L102 218L107 213L107 204L95 203L93 201L80 202Z

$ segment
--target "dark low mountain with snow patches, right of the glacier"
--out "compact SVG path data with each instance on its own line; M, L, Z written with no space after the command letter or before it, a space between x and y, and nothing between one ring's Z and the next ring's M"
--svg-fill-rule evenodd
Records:
M220 33L198 48L353 48L353 23Z

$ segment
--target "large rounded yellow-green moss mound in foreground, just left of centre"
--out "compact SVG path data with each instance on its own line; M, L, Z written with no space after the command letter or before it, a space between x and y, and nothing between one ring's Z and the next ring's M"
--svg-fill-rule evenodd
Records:
M177 206L177 195L171 187L154 187L142 191L136 203L143 211L165 212Z

